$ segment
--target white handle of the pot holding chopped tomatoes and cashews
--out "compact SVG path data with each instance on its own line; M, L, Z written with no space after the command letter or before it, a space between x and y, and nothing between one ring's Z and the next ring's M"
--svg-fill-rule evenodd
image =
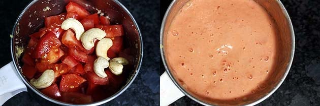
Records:
M0 105L22 91L27 91L26 86L10 62L0 69Z

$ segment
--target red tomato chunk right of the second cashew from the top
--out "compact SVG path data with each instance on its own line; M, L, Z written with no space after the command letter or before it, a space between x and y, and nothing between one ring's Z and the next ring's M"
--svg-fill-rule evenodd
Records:
M124 35L122 25L95 25L95 27L104 30L107 35L106 37L116 37Z

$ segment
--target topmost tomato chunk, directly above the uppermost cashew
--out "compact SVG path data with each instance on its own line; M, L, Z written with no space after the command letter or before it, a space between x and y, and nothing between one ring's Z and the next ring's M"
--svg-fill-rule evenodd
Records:
M80 20L90 15L90 13L86 9L84 9L82 6L74 2L70 2L66 6L66 10L67 10L67 13L72 13L72 12L77 13L79 15Z

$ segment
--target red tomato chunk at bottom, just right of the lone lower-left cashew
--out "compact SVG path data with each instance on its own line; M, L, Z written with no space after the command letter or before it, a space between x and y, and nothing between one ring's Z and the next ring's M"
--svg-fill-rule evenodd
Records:
M70 89L79 87L86 80L77 74L62 75L60 82L60 91L69 92Z

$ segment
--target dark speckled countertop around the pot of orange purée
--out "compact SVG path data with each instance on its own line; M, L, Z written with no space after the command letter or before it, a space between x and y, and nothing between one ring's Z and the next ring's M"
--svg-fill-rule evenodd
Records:
M161 0L163 17L171 0ZM320 1L281 0L296 36L296 52L289 75L280 88L258 105L320 105ZM161 73L164 72L161 66ZM200 105L182 97L172 105Z

